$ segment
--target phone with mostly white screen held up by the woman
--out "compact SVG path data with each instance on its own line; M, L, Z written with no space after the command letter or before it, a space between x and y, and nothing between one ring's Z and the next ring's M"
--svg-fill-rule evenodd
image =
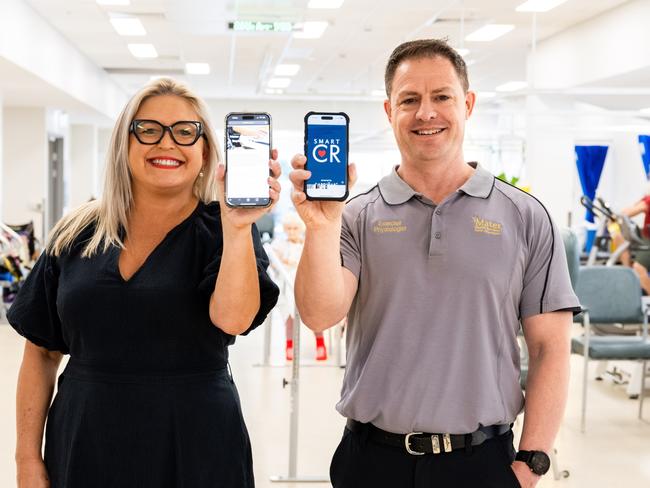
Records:
M228 114L226 117L226 203L263 207L269 198L271 157L269 114Z

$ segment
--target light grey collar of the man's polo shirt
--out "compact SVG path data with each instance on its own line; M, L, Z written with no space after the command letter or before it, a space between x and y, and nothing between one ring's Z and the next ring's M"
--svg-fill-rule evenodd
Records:
M478 198L489 197L492 186L494 186L494 175L476 162L468 164L476 171L458 191ZM389 205L400 205L408 202L414 196L420 196L420 193L416 192L400 178L397 174L398 167L393 167L388 175L379 180L379 191L384 201Z

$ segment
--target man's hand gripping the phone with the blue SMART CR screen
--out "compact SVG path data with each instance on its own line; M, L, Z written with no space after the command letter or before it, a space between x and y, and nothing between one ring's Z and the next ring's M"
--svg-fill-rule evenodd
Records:
M296 154L291 160L293 171L289 179L293 185L291 201L305 225L310 229L326 227L332 224L340 224L341 215L345 208L345 202L334 200L307 200L305 195L305 181L311 177L311 172L305 169L307 158L302 154ZM352 188L357 181L357 170L354 163L348 165L349 188Z

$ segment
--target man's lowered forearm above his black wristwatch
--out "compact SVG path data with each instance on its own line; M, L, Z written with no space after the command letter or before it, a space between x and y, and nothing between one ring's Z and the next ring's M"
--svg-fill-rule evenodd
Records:
M569 385L569 353L563 349L531 352L526 383L520 450L550 452L564 415Z

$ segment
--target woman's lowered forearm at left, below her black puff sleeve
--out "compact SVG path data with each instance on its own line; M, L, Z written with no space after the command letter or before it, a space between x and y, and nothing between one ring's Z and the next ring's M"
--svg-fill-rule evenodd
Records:
M45 419L63 355L25 343L16 389L16 461L41 459Z

